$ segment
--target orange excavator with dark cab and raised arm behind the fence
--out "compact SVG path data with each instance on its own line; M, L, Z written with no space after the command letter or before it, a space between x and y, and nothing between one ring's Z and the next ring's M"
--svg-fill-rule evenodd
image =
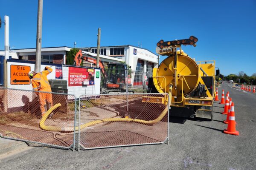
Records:
M91 62L96 65L97 59L90 55L84 54L81 50L76 53L74 58L74 64L80 66L82 60ZM128 92L134 93L132 90L128 90L131 87L131 77L128 75L128 65L122 63L111 63L108 64L108 68L105 68L102 61L99 60L99 68L102 71L102 88L101 92L103 94L108 94L111 92Z

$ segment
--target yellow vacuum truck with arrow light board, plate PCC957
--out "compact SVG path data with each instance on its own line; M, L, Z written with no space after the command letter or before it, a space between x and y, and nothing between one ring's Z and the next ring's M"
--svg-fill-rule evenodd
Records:
M168 56L148 82L148 93L172 96L170 116L212 120L215 95L215 61L196 62L181 45L196 46L198 38L157 42L157 54Z

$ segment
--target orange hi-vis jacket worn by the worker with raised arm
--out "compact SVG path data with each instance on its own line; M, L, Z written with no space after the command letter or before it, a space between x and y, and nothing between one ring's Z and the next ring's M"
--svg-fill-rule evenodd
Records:
M51 86L47 79L47 75L52 72L52 68L46 67L47 70L35 74L31 80L34 91L48 91L51 92Z

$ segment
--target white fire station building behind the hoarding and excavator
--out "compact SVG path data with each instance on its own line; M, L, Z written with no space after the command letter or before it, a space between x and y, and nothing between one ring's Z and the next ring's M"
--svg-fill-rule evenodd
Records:
M54 64L66 64L67 51L70 47L48 47L41 49L41 62ZM96 57L97 47L79 48L84 54ZM0 51L0 53L4 51ZM15 49L10 51L10 54L15 54L12 59L20 59L27 61L35 61L35 48ZM158 67L157 55L148 51L145 48L136 47L133 45L120 46L103 46L100 47L100 59L104 65L111 62L125 62L131 66L133 71L133 85L142 85L142 79L146 75L152 77L152 70ZM3 60L3 56L0 56ZM84 61L83 66L95 67L93 63ZM146 74L145 74L146 73Z

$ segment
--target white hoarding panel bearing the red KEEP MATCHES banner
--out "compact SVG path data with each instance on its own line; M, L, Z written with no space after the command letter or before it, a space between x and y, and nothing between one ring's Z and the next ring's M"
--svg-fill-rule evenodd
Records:
M77 98L81 94L100 93L100 70L96 68L63 65L63 79L67 80L68 94Z

